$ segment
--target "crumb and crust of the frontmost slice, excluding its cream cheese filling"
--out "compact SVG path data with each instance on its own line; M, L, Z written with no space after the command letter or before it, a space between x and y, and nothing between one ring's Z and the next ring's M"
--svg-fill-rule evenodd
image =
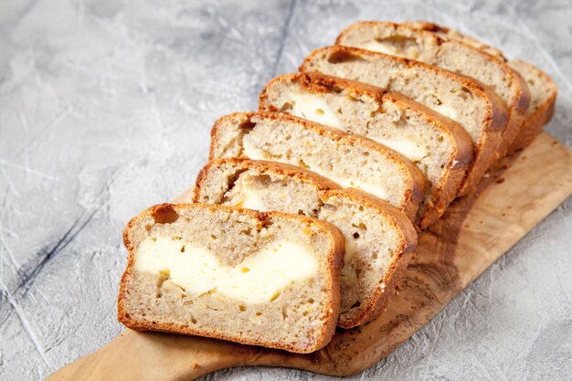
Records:
M281 213L260 214L225 206L179 205L166 218L148 209L130 222L125 243L129 266L122 279L118 316L134 329L190 333L308 353L331 339L339 311L343 238L325 223ZM157 217L159 216L159 217ZM170 237L213 252L237 266L274 240L311 248L319 270L292 282L271 302L241 302L215 290L192 296L169 274L134 270L145 238Z

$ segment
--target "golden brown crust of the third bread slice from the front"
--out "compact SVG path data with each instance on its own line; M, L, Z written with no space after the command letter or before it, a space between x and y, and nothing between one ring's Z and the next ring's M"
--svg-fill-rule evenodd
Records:
M409 162L408 158L403 156L401 153L397 153L385 145L376 143L370 139L359 137L355 135L350 135L348 133L344 133L340 130L330 128L324 126L322 124L318 124L315 122L310 122L301 118L297 118L288 114L283 114L279 112L243 112L243 113L233 113L222 118L219 118L215 125L213 126L212 130L212 139L211 139L211 151L210 157L211 160L215 158L214 147L218 144L218 130L223 123L227 122L230 118L237 118L237 120L245 121L245 126L253 125L252 118L267 118L270 120L282 121L282 122L293 122L300 125L302 128L306 128L312 130L314 132L319 133L322 136L327 137L328 139L334 140L334 142L340 143L347 143L350 145L354 145L355 143L365 146L367 149L371 151L376 151L383 155L387 155L392 161L398 163L403 171L404 174L408 176L408 192L404 197L403 200L403 212L414 220L417 211L418 205L423 199L424 196L424 188L425 188L425 176L419 171L418 167ZM242 156L244 157L244 156Z

